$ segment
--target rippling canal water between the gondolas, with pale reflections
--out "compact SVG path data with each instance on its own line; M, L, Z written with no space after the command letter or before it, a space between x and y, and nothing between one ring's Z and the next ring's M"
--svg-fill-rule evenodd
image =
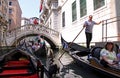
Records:
M92 69L78 66L68 53L60 50L54 53L55 63L60 67L60 73L55 78L109 78L103 74ZM60 59L59 59L60 58ZM40 58L45 66L47 66L47 59Z

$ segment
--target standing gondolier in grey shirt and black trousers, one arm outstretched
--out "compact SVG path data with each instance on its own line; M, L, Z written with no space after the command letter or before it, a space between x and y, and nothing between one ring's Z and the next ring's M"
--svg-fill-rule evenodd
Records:
M92 29L94 25L99 25L100 22L95 22L92 20L93 16L89 15L89 19L85 21L83 27L85 27L85 35L86 35L86 46L87 48L90 48L90 42L92 40Z

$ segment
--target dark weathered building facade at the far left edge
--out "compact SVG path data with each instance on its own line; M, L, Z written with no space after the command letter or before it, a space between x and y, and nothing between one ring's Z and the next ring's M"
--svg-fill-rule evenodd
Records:
M0 0L0 46L4 44L4 32L8 27L8 0Z

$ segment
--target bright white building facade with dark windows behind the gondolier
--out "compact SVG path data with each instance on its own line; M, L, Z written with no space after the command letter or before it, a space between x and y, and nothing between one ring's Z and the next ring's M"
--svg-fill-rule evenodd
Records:
M82 30L89 15L96 22L104 20L94 26L92 42L120 40L120 0L44 0L41 3L43 25L59 31L68 42ZM74 42L86 42L84 31Z

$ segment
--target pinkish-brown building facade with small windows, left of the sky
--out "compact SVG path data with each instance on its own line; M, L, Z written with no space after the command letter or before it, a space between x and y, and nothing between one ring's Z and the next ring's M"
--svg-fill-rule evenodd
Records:
M21 26L22 10L18 0L9 0L9 30Z

